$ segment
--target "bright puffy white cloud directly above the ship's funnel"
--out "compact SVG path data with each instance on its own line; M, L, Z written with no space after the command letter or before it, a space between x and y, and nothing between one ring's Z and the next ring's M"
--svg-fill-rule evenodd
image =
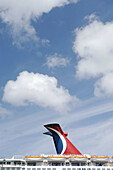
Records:
M64 87L58 87L56 78L39 73L21 72L16 81L10 80L4 88L3 101L16 106L30 103L67 112L77 98Z

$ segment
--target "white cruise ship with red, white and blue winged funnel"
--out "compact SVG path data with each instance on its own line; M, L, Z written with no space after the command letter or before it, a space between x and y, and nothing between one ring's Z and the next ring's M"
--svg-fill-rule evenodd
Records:
M56 155L0 158L1 170L113 170L113 157L82 154L57 123L44 125L53 138Z

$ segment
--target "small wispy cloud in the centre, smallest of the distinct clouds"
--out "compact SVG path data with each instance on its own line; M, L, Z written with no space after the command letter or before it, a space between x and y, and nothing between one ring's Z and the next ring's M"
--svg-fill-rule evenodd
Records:
M54 68L54 67L66 67L67 64L69 64L69 59L68 58L63 58L61 55L55 53L47 58L46 65L49 68Z

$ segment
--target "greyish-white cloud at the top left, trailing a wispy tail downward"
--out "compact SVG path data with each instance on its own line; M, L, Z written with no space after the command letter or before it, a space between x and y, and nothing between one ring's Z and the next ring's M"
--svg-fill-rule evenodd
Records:
M77 2L77 0L74 0ZM28 40L38 41L36 30L31 21L55 7L71 3L71 0L0 0L0 18L11 26L14 43ZM17 42L18 40L18 42Z

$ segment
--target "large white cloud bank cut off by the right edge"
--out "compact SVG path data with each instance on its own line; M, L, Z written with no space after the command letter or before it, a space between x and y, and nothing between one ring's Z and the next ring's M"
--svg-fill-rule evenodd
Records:
M89 18L92 19L92 17ZM110 81L106 82L108 83L106 86L104 82L107 80L106 76L109 77L107 74L113 74L112 30L113 22L103 23L97 19L90 20L88 25L75 30L76 39L73 50L80 59L76 66L76 76L80 79L101 77L102 79L95 85L96 96L98 96L97 91L102 90L104 94L107 94L109 88L113 88Z

